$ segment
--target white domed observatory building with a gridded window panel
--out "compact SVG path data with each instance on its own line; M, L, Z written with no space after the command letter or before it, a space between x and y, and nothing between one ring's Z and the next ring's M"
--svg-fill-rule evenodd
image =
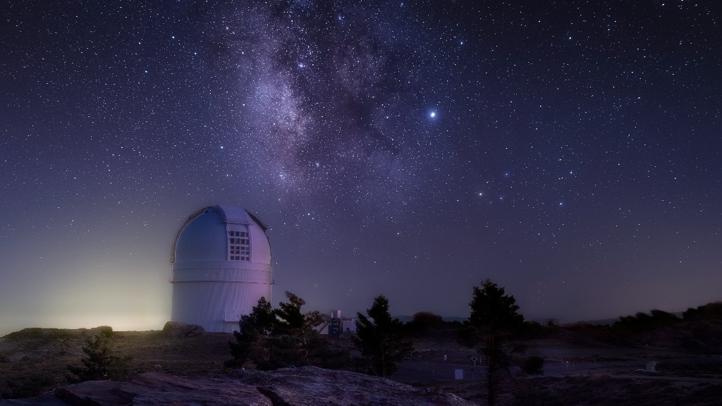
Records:
M240 207L193 213L173 241L171 321L208 332L238 329L261 296L271 301L271 246L266 226Z

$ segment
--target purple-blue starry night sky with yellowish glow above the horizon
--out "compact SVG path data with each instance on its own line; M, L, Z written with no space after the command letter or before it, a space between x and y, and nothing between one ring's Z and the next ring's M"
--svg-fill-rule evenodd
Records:
M596 4L599 3L599 4ZM160 329L188 215L273 303L527 319L722 299L718 1L3 1L0 334Z

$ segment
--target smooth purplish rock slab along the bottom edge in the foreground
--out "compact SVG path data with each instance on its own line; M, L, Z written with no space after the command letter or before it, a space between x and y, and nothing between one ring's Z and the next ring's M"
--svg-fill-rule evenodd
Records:
M417 389L396 381L316 367L235 371L224 379L147 372L129 381L89 381L0 405L240 405L471 406L453 394Z

